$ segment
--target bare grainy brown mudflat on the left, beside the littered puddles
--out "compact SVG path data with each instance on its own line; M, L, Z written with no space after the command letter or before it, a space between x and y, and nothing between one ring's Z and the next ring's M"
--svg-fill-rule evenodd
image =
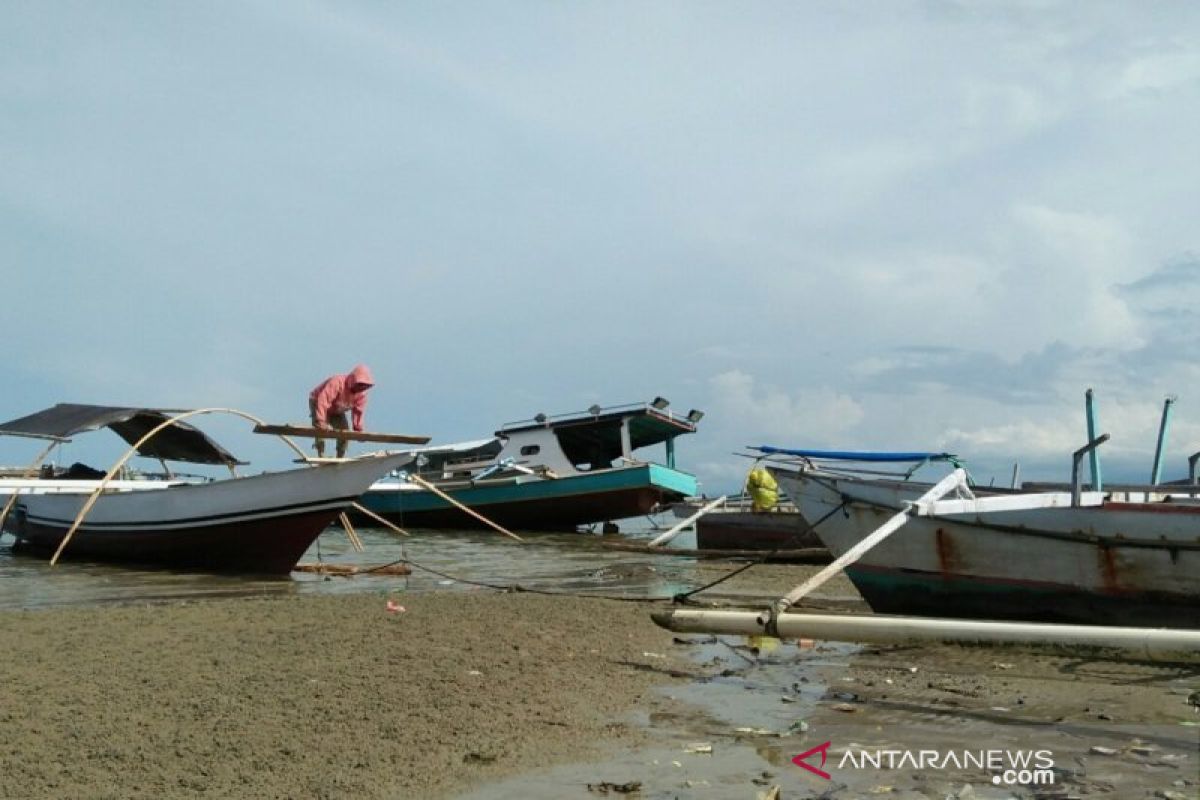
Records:
M672 680L647 612L371 593L0 613L0 796L430 798L587 758L644 736L622 715Z

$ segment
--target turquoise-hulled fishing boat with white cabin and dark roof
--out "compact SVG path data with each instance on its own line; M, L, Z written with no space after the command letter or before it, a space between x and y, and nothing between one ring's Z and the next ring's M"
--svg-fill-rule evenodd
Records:
M703 416L671 411L666 399L506 422L487 439L404 451L410 471L377 481L371 512L406 528L479 528L482 517L521 530L574 530L648 515L697 493L676 469L677 437ZM664 445L662 463L642 449ZM432 487L432 488L431 488ZM448 500L449 498L449 500ZM452 500L452 503L450 501Z

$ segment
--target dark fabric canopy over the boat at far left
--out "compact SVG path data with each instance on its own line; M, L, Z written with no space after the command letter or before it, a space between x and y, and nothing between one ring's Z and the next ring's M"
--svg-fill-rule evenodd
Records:
M18 420L0 423L0 435L67 439L76 433L110 428L131 445L182 409L125 408L59 403ZM138 447L139 456L193 464L244 464L228 450L186 422L163 428Z

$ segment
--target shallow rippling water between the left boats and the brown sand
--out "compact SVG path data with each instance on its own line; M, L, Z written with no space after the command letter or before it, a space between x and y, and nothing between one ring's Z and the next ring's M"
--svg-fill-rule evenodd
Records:
M94 561L14 553L12 537L0 539L0 608L40 608L134 600L288 596L353 591L469 589L478 582L528 589L629 597L660 597L696 583L695 561L607 549L590 534L521 534L526 545L488 531L413 530L403 537L385 529L356 528L364 552L354 552L337 528L322 534L301 564L325 561L378 566L398 559L410 576L326 577L293 572L264 578L148 570ZM649 535L648 533L644 535ZM634 534L637 536L637 534ZM680 547L692 547L684 534ZM437 575L442 573L442 575Z

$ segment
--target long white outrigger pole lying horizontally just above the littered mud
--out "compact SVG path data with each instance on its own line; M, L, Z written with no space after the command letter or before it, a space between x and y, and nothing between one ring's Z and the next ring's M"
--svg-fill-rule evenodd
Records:
M763 636L769 614L671 609L650 615L656 625L679 633ZM1068 648L1108 648L1157 660L1200 660L1200 630L996 622L913 616L850 616L780 614L775 636L898 644L952 642L959 644L1043 644Z

